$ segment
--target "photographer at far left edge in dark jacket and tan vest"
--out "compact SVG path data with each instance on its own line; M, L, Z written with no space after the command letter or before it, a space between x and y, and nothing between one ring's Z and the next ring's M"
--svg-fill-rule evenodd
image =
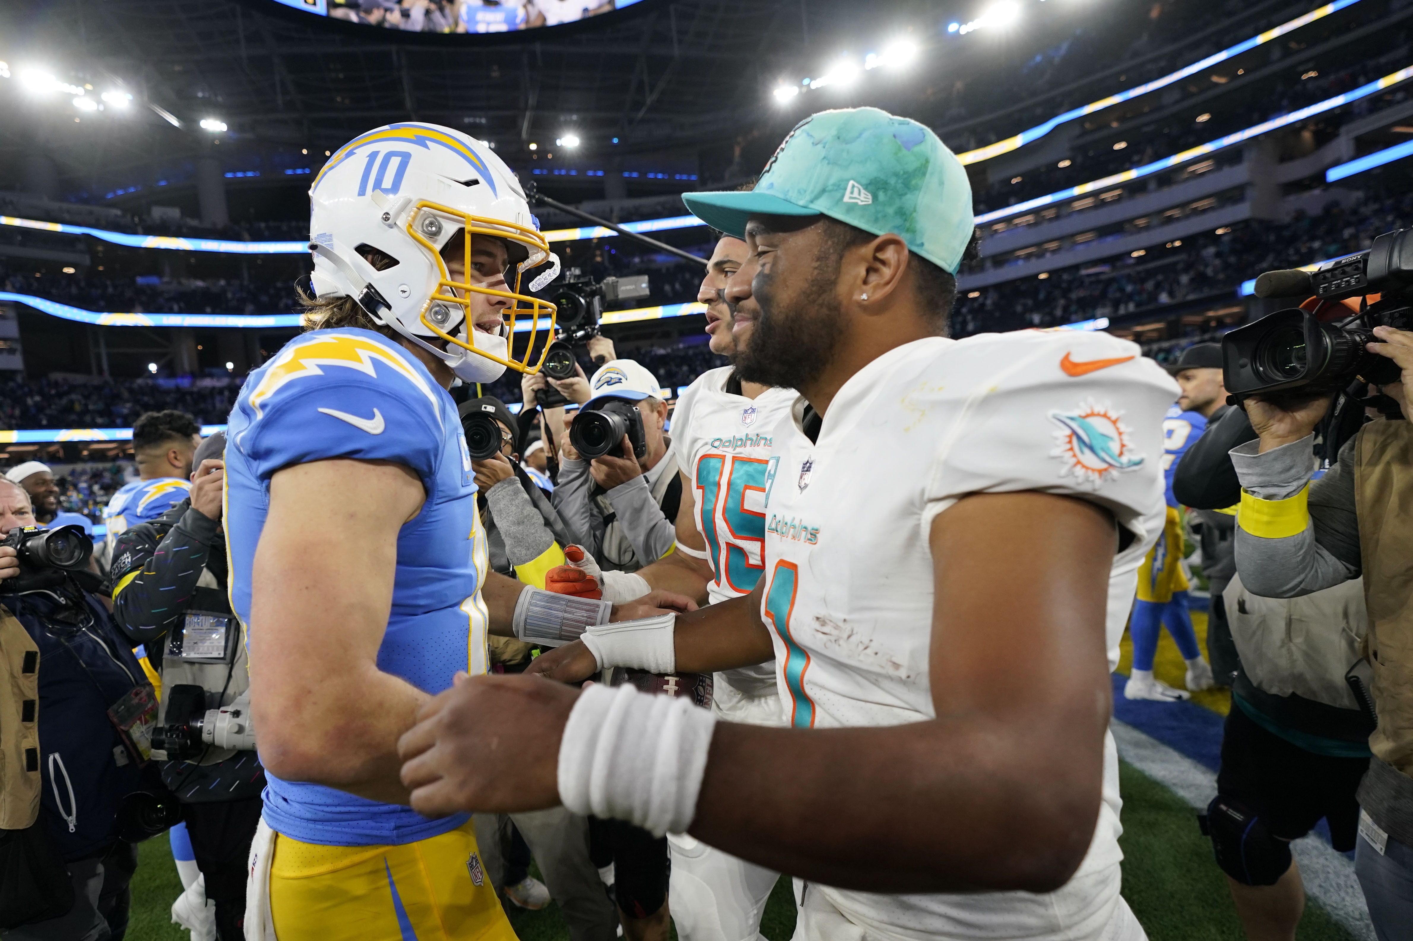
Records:
M0 480L0 930L117 940L137 868L119 808L144 784L155 696L81 584L97 581L90 543L34 526L30 495Z

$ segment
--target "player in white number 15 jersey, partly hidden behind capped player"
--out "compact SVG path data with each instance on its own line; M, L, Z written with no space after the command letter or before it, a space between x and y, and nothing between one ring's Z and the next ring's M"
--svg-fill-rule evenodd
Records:
M735 360L750 340L755 306L736 310L726 282L746 261L746 243L722 234L706 264L697 299L706 305L712 353ZM554 570L545 587L565 594L627 601L651 588L716 604L750 594L764 571L764 478L770 429L788 412L796 392L743 382L735 367L708 370L677 401L673 450L681 467L675 552L636 573L601 573L577 566ZM567 570L567 571L565 571ZM599 578L603 584L599 584ZM773 663L716 673L718 717L753 725L783 725ZM690 834L670 834L673 855L668 909L682 941L752 941L760 931L773 869L738 859Z

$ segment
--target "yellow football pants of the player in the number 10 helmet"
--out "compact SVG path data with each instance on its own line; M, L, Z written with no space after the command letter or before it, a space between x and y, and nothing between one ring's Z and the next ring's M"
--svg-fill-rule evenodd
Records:
M516 941L471 821L401 846L321 846L276 834L280 941Z

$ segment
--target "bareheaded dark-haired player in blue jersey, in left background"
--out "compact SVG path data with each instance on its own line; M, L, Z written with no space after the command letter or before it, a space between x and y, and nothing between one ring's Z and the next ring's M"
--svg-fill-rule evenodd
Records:
M187 412L147 412L133 425L137 480L119 488L103 508L106 547L137 523L157 519L187 499L191 459L201 444L201 425Z

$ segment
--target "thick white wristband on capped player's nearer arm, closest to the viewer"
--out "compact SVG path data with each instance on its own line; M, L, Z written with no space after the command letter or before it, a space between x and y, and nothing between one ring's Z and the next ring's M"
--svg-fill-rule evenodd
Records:
M691 700L591 686L560 739L560 800L575 814L685 832L716 718Z

